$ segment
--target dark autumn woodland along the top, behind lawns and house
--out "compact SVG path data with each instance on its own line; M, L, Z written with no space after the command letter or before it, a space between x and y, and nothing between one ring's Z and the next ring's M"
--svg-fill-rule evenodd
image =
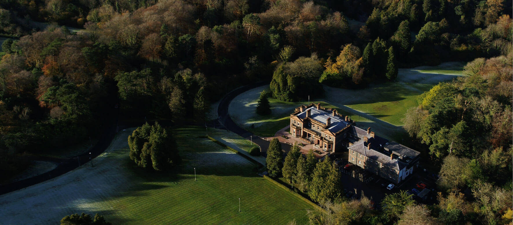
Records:
M2 1L0 33L20 38L0 53L0 165L94 137L117 103L126 120L202 123L210 102L258 80L292 101L506 55L510 14L496 0Z

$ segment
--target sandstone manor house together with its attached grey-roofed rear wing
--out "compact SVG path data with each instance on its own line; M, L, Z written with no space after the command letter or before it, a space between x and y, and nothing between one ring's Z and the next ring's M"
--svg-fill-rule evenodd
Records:
M370 127L361 129L348 116L321 103L295 108L290 133L326 152L348 151L347 161L395 184L419 166L420 152L378 137Z

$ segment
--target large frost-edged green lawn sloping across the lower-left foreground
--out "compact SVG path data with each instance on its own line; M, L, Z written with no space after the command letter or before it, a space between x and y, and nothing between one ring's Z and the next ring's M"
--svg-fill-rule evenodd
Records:
M113 224L307 222L307 202L258 176L255 163L194 138L201 131L173 131L184 160L183 169L173 175L136 168L128 159L131 130L122 131L94 159L94 167L86 164L0 196L0 219L4 224L55 224L65 215L85 212L103 214Z

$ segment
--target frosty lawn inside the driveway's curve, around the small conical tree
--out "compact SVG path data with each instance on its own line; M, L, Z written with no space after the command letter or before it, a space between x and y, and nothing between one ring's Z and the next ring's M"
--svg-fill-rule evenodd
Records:
M269 98L271 105L271 115L260 116L256 111L258 97L260 92L267 89L269 86L261 86L253 88L237 97L235 97L229 106L228 113L233 121L244 129L251 131L254 134L262 137L272 137L274 134L290 124L290 114L294 112L294 109L300 105L308 105L308 101L305 102L284 102L275 98ZM310 103L321 103L321 106L326 108L336 108L339 114L344 116L350 116L353 120L360 120L368 122L365 118L354 117L353 114L348 111L340 109L337 106L329 104L325 101L310 101Z

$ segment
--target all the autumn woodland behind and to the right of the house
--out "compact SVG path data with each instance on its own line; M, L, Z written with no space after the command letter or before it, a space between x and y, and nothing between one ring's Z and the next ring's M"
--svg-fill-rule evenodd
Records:
M0 52L0 169L12 174L26 165L24 154L94 138L116 117L115 105L123 121L199 124L211 102L254 81L295 101L323 95L322 84L361 88L394 80L399 67L468 61L467 77L433 87L405 117L441 165L440 203L404 201L385 217L366 214L361 202L326 208L363 210L340 217L349 222L503 223L511 218L511 4L0 1L0 35L11 38Z

